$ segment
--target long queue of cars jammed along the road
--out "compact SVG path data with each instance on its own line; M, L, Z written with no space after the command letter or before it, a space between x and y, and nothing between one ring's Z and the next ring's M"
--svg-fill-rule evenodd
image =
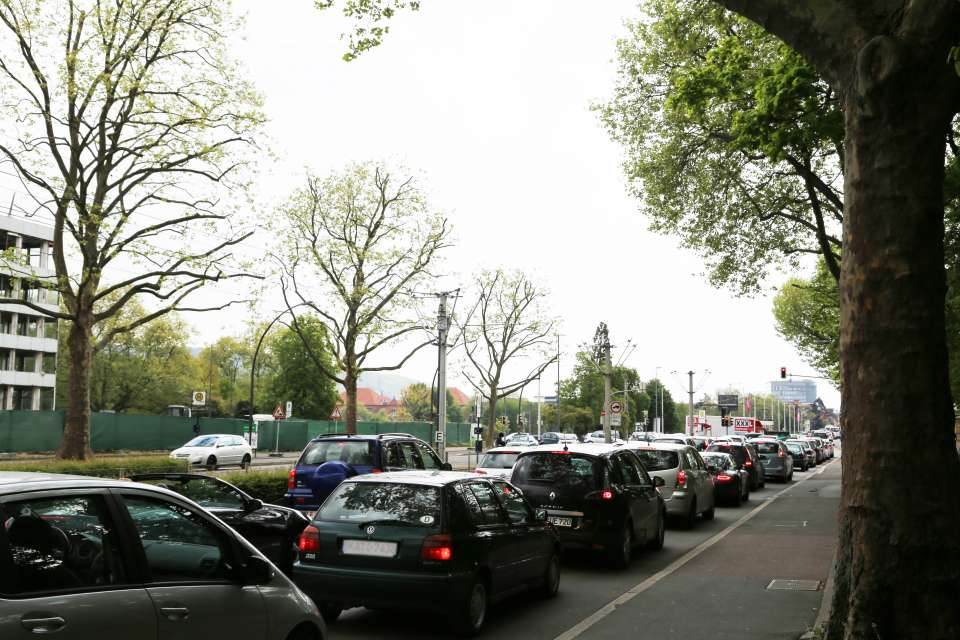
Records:
M0 598L0 637L148 637L147 615L159 638L217 629L308 640L329 637L357 607L422 611L432 625L475 636L499 601L556 596L568 556L598 572L629 571L635 556L664 548L669 530L738 508L768 482L790 483L832 458L840 438L836 428L611 435L510 434L469 472L409 434L320 436L301 452L280 504L199 473L132 483L0 474L15 566L0 570L0 594L16 595ZM171 455L209 466L206 450L196 453L204 446L216 443ZM246 465L242 451L231 455ZM151 586L111 588L128 583ZM51 585L63 593L31 597ZM269 597L252 598L254 588Z

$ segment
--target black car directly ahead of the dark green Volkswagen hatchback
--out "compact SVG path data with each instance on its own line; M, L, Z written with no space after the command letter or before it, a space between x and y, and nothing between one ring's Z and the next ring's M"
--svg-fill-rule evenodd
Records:
M663 547L666 506L640 459L619 445L540 447L517 458L511 481L545 509L564 547L605 552L618 567L636 545Z

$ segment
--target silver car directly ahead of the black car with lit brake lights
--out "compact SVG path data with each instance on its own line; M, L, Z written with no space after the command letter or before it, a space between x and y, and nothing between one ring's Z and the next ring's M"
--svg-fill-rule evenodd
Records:
M643 462L647 473L663 478L660 496L667 514L692 527L698 515L713 520L713 479L697 450L686 444L629 442L626 445Z

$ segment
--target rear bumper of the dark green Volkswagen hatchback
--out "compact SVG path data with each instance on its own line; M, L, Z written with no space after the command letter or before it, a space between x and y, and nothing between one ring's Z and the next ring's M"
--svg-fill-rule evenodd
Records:
M449 613L462 603L473 573L371 571L297 562L291 575L316 603L349 607L410 607Z

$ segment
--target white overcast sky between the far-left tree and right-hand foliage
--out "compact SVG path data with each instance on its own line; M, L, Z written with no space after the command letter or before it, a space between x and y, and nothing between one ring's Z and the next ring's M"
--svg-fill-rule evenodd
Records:
M323 175L387 159L420 173L455 227L438 288L503 266L550 290L564 376L601 320L614 344L638 345L626 364L644 378L660 367L678 399L686 399L686 375L671 371L697 372L697 398L726 386L768 392L781 366L815 373L776 335L770 295L738 299L712 287L698 257L647 231L626 195L621 149L589 106L611 93L615 40L638 15L636 0L424 2L351 63L340 57L351 23L338 12L320 12L312 0L234 6L247 14L236 56L266 98L277 156L264 159L258 181L264 211L299 185L305 167ZM236 295L222 288L203 302ZM263 319L281 305L279 296L265 301ZM233 308L186 319L201 344L239 333L247 318ZM435 351L424 351L399 373L429 381L435 366ZM545 394L555 370L544 374ZM839 406L839 393L817 384L827 405Z

